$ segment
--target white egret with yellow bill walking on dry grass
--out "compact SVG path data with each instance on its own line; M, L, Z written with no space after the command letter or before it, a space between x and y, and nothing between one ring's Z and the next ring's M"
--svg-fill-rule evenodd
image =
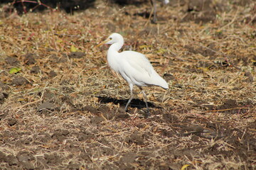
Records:
M118 52L124 45L124 38L118 33L112 33L107 40L101 42L98 46L110 44L107 51L107 62L110 67L121 75L127 83L131 91L131 97L127 102L124 110L127 111L129 103L134 98L132 89L137 85L142 91L146 103L146 111L149 112L149 106L146 100L146 94L142 90L142 86L161 86L163 89L168 89L166 81L156 73L149 60L142 53L134 51Z

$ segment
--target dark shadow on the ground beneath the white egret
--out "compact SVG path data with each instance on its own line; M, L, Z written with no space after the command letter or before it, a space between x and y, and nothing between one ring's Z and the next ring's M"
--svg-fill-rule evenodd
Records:
M114 103L119 104L120 106L126 106L128 99L117 99L117 98L110 98L110 97L102 97L102 96L96 96L98 98L98 101L101 103ZM147 102L149 105L149 108L161 108L159 106L155 106L154 103ZM129 108L146 108L146 103L143 100L140 100L138 98L132 99L131 103L129 104Z

